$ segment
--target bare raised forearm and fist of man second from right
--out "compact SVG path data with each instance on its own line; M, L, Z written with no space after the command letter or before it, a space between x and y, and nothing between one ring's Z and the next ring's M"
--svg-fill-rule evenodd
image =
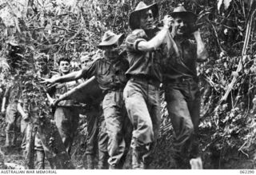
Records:
M158 34L154 36L154 38L150 39L150 41L147 42L144 40L144 41L138 42L138 50L141 50L141 51L156 50L158 46L162 44L164 38L166 38L166 34L169 31L171 21L172 21L172 18L166 15L163 19L164 25L162 27L162 30L160 30L160 32L158 32Z

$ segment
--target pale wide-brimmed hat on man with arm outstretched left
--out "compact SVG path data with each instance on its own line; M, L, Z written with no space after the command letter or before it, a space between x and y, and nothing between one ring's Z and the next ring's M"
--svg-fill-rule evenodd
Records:
M102 42L98 44L98 49L101 49L104 46L111 46L114 45L114 43L116 42L122 42L122 40L124 39L124 34L114 34L113 32L111 32L110 30L106 31L105 34L102 37Z

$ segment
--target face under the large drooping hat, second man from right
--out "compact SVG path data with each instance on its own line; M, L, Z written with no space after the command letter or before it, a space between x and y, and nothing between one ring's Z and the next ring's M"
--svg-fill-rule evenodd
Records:
M141 13L140 16L140 28L142 30L151 30L153 29L153 22L154 22L154 17L152 10L144 10Z

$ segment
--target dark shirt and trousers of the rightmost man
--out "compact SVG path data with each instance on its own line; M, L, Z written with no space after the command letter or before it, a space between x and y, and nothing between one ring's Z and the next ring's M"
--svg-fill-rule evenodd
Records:
M175 39L175 38L174 38ZM197 46L184 39L176 43L170 39L173 51L162 62L163 84L167 109L174 127L175 157L198 157L198 132L200 114L200 90L196 72Z

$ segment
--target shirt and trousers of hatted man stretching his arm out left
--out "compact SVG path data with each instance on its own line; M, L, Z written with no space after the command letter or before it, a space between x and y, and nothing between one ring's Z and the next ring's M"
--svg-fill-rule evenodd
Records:
M105 93L102 108L109 137L107 149L110 158L108 162L114 168L122 168L122 158L126 155L127 145L124 132L128 117L126 117L122 91L126 85L125 71L127 68L128 62L124 58L111 61L99 58L90 66L82 69L82 76L84 78L95 76L99 87Z

